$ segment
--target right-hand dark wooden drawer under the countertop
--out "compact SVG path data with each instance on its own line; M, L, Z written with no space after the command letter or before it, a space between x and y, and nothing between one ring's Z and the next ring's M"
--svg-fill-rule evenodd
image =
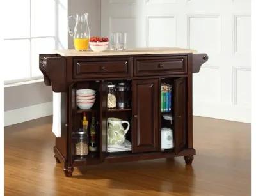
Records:
M134 76L187 73L186 56L134 57Z

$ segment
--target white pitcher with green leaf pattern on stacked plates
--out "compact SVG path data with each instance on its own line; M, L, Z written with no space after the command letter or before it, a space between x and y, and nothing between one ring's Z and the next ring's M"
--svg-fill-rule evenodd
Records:
M127 128L124 130L123 123L127 123ZM125 134L130 128L128 121L122 121L122 119L110 117L108 118L108 144L123 144L125 142Z

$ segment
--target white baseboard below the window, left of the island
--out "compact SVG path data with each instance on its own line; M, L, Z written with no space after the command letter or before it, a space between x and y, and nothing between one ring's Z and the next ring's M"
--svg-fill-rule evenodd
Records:
M52 115L52 102L40 103L4 112L4 126Z

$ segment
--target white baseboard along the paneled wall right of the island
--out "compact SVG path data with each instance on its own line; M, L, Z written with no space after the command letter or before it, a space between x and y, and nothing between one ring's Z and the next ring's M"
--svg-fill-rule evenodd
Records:
M243 123L251 122L250 107L239 107L238 105L193 103L193 115L202 117L212 117L228 121L238 121Z

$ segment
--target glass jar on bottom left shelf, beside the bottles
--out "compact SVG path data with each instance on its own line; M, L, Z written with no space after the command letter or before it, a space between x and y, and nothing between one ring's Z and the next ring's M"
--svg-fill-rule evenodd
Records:
M83 129L79 129L76 135L76 155L88 155L88 133L84 132Z

